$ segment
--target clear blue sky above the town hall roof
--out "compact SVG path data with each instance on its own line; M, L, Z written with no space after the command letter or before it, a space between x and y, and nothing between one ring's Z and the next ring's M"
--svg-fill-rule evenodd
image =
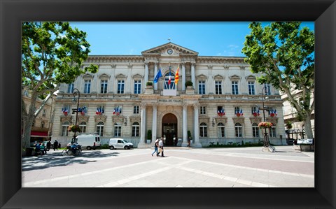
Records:
M201 56L244 57L241 53L250 22L70 22L87 32L90 55L141 55L172 43ZM266 22L263 23L267 24ZM302 22L314 30L314 22Z

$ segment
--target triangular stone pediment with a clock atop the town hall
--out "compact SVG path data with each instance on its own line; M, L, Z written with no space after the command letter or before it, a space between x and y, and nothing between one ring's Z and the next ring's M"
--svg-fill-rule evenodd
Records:
M168 50L171 52L169 54ZM181 45L177 45L175 43L169 42L164 45L159 45L155 48L151 48L144 52L141 52L142 55L198 55L198 52L190 50L188 48L184 48Z

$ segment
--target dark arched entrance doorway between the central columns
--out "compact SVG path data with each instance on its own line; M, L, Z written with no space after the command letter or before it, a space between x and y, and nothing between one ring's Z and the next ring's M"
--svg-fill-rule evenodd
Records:
M177 145L177 117L172 113L168 113L162 118L162 136L166 138L165 145Z

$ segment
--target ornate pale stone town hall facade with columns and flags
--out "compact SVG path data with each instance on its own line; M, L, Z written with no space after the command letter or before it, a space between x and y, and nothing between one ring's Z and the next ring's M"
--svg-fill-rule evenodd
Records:
M73 88L79 90L80 108L85 110L78 114L77 124L82 132L100 134L103 144L109 138L125 138L135 147L150 147L162 136L166 145L186 146L188 134L194 147L262 141L258 123L263 115L262 110L257 112L264 86L256 82L258 75L251 73L244 57L199 56L169 42L141 55L90 56L84 64L97 64L99 71L61 85L55 101L52 138L61 143L72 137L66 127L76 117L71 114L76 108L71 102ZM159 71L162 77L153 82ZM146 85L148 81L153 85ZM187 81L193 85L186 87ZM281 145L283 101L277 89L266 87L265 105L278 110L276 115L265 112L267 121L274 124L270 140ZM66 109L70 110L67 115Z

